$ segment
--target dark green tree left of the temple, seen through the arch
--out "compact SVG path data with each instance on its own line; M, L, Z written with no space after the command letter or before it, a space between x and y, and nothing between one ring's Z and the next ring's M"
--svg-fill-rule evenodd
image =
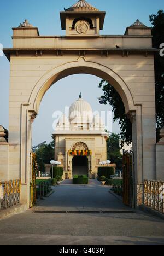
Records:
M54 141L50 144L45 144L36 150L37 163L39 171L44 172L44 164L49 164L51 160L54 160Z

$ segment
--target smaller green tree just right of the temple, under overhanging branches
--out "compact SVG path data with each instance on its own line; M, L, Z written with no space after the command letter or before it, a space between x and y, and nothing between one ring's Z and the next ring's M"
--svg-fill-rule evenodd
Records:
M122 155L120 153L120 135L112 133L107 140L107 159L122 169Z

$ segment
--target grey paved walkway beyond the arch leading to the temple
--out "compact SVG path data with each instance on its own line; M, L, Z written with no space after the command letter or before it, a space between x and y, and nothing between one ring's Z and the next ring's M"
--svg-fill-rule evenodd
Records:
M109 186L102 186L95 179L89 185L73 185L66 180L54 187L54 194L38 203L34 210L46 211L124 211L131 210L109 193Z

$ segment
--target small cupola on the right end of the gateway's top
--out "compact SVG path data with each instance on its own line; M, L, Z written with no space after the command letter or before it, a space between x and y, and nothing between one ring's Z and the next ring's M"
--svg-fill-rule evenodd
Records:
M151 27L145 26L139 20L136 20L130 27L126 28L127 36L151 36Z

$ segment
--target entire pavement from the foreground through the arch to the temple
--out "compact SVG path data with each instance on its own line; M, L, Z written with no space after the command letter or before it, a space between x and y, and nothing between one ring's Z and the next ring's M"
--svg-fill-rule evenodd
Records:
M128 208L108 193L109 187L97 182L91 181L88 187L64 182L54 189L54 194L32 210L0 220L0 245L164 245L164 221L141 211L129 214L34 213L36 209L88 210L87 206L91 210Z

